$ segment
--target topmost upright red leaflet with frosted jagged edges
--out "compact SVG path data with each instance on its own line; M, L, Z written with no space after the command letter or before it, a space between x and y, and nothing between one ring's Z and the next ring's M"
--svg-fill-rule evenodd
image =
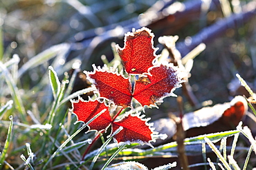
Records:
M146 73L157 59L153 47L154 34L148 28L133 30L125 34L125 47L116 45L116 50L128 74Z

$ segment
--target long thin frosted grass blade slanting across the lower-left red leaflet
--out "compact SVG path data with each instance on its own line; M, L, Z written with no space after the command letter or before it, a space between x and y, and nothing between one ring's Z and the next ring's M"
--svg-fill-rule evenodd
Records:
M66 144L68 144L69 141L71 141L80 131L82 131L82 129L84 129L87 125L89 125L89 123L91 123L95 118L98 118L98 116L100 116L100 114L104 113L104 111L106 111L106 109L103 109L102 111L100 111L100 113L98 113L97 115L95 115L93 118L91 118L91 120L89 120L87 123L85 123L84 125L82 125L82 127L80 127L80 129L78 129L77 131L75 131L74 134L72 134L69 138L67 138L65 140L65 142L62 143L62 145L60 145L60 147L53 153L53 155L47 160L46 164L44 164L43 169L46 169L46 166L51 162L51 160L53 160L53 158L57 155L57 153L59 153L65 146Z

